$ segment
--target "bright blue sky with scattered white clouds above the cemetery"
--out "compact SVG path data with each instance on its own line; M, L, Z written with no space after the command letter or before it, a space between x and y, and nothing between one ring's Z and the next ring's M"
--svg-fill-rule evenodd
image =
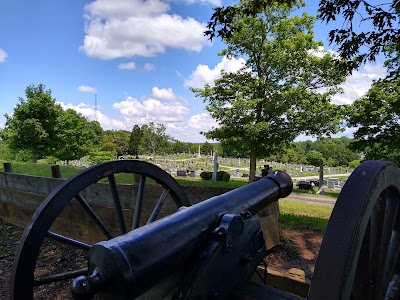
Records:
M317 1L305 10L316 15ZM183 142L204 142L217 126L190 87L235 71L242 60L218 56L224 45L204 35L213 7L225 0L3 0L0 1L0 128L29 85L44 84L64 109L72 108L104 130L162 123ZM317 21L325 50L329 27ZM367 64L343 84L333 102L350 104L382 62ZM96 105L97 104L97 105ZM346 129L338 136L351 136ZM298 140L306 139L299 137Z

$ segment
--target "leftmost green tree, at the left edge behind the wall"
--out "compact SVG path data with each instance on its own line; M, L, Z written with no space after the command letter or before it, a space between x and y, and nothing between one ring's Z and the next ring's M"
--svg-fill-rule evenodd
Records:
M52 98L51 90L45 88L43 84L28 86L26 99L19 99L12 116L5 115L6 124L1 131L12 150L31 152L32 162L51 154L57 143L56 122L62 109Z

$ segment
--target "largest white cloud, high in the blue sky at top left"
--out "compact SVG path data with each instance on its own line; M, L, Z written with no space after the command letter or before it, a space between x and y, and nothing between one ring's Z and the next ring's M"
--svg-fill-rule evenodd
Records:
M160 0L96 0L85 6L81 49L101 59L154 56L167 47L200 51L208 43L205 24L169 9Z

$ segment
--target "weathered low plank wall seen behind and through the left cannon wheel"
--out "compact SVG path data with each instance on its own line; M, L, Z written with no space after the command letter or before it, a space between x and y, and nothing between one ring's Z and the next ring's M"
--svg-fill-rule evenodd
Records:
M63 181L63 179L28 176L22 174L0 172L0 218L19 227L25 227L33 213L42 201ZM192 204L230 191L228 188L183 187ZM132 216L135 207L134 185L118 185L124 215L128 228L131 228ZM163 188L158 185L147 184L145 201L142 208L142 220L150 216L155 203L159 199ZM87 200L99 217L108 224L112 224L110 231L118 235L116 216L113 207L109 185L97 183L82 191L81 195ZM171 199L169 199L171 200ZM168 199L167 199L168 201ZM169 215L176 211L173 201L168 201L160 212L160 216ZM264 231L267 248L279 243L278 231L278 204L273 203L259 215ZM97 230L92 219L83 211L76 201L64 209L51 231L58 232L72 238L95 243L104 240L104 236Z

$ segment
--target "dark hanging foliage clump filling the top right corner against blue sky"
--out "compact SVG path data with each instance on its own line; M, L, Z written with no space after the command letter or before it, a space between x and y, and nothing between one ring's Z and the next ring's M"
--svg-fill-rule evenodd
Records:
M364 0L321 0L319 15L326 23L343 20L341 28L329 32L329 40L339 45L339 54L347 59L349 70L375 61L379 53L384 53L390 77L400 74L399 0L377 4Z

